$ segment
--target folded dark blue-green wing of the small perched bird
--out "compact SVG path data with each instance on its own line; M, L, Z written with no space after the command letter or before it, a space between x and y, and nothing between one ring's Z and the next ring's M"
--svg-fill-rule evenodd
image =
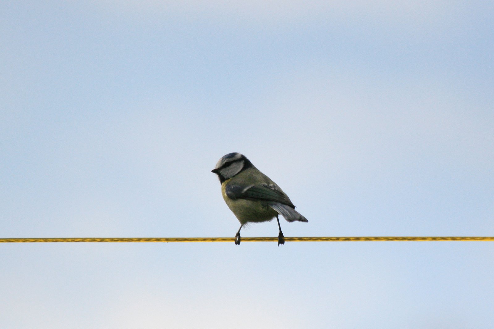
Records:
M225 193L230 199L250 199L279 202L295 208L288 196L274 184L237 185L228 184Z

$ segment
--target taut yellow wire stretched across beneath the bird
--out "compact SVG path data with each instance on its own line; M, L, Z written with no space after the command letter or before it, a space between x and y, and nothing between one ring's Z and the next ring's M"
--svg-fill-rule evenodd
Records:
M0 238L19 242L234 242L235 238ZM242 238L242 242L276 242L277 237ZM310 236L285 237L285 241L494 241L494 236Z

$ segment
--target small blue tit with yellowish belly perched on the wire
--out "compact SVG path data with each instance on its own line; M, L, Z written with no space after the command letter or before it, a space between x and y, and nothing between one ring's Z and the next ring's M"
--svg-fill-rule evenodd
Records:
M240 245L240 230L247 222L269 221L276 217L280 246L285 244L285 239L278 215L287 221L308 221L295 211L295 206L280 186L254 167L245 155L228 153L219 159L211 172L218 175L223 199L240 221L239 231L235 235L236 245Z

